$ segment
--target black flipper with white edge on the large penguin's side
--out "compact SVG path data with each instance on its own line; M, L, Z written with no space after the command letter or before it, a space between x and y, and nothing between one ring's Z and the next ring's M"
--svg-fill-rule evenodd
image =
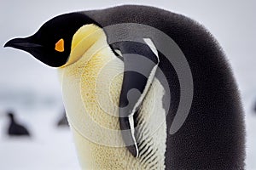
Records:
M145 39L144 42L127 41L113 44L113 49L118 49L122 54L125 65L119 97L119 125L126 148L135 157L139 155L135 138L135 115L153 82L159 63L157 50L153 46L154 43L148 43Z

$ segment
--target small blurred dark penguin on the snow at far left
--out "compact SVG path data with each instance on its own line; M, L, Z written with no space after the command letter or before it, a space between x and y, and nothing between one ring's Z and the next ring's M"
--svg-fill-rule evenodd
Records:
M9 111L7 115L9 116L9 136L30 136L30 133L28 132L26 127L16 122L15 115L13 112Z

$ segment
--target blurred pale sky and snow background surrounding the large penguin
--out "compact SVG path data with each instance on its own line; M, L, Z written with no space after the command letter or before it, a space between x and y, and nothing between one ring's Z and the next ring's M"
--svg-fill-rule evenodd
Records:
M0 1L0 169L79 169L72 135L58 127L63 115L55 69L29 54L2 48L13 37L32 35L57 14L120 4L165 8L197 20L224 48L234 70L247 124L247 169L256 169L256 2L204 0ZM8 111L31 137L9 137Z

